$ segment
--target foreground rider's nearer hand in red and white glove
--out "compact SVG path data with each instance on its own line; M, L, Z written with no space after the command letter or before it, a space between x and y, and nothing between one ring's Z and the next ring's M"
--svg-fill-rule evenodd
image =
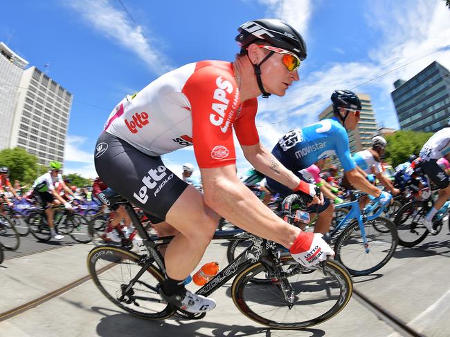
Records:
M334 256L334 251L322 237L321 233L300 232L289 253L305 267L325 261L328 256Z

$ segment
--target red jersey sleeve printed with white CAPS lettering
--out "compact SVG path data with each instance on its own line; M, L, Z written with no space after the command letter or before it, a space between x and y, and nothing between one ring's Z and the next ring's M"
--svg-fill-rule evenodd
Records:
M233 122L240 106L239 89L231 71L202 66L183 87L192 113L192 144L201 168L235 164Z

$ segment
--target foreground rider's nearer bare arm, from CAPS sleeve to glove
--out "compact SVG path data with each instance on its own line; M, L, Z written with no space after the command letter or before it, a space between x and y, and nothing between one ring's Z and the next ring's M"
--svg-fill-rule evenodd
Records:
M238 227L291 247L300 229L278 218L236 175L236 166L200 168L205 203Z

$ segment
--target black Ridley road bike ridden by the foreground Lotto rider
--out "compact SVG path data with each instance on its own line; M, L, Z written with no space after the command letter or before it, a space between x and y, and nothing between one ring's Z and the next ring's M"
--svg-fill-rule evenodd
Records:
M294 198L298 196L286 200L288 207L298 202ZM93 248L87 256L87 265L98 289L115 305L141 318L162 320L175 314L188 319L203 318L206 313L187 314L159 296L165 275L159 247L168 244L172 237L152 240L127 200L120 195L110 195L109 200L111 204L125 204L143 238L145 251L138 255L113 245ZM227 237L222 231L219 238ZM250 240L252 244L246 251L197 293L210 296L234 277L231 296L236 307L251 320L276 329L317 325L339 314L348 304L352 280L339 262L327 260L307 269L289 253L280 251L274 242L255 235ZM247 250L253 258L248 258Z

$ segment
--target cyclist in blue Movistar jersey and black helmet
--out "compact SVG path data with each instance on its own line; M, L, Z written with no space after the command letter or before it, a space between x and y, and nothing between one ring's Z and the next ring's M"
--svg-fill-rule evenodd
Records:
M392 198L391 195L381 192L370 184L356 169L350 156L347 131L354 130L359 122L361 101L350 90L334 91L331 100L334 117L323 119L305 128L289 131L278 141L272 154L302 180L305 178L299 173L300 170L314 164L317 160L336 154L343 166L345 177L353 186L378 198L382 204L388 203ZM266 186L269 190L282 195L292 193L287 186L270 177L267 177ZM315 226L316 232L328 231L333 210L334 206L330 204L330 200L317 206L319 215ZM316 211L316 206L311 207L309 211Z

